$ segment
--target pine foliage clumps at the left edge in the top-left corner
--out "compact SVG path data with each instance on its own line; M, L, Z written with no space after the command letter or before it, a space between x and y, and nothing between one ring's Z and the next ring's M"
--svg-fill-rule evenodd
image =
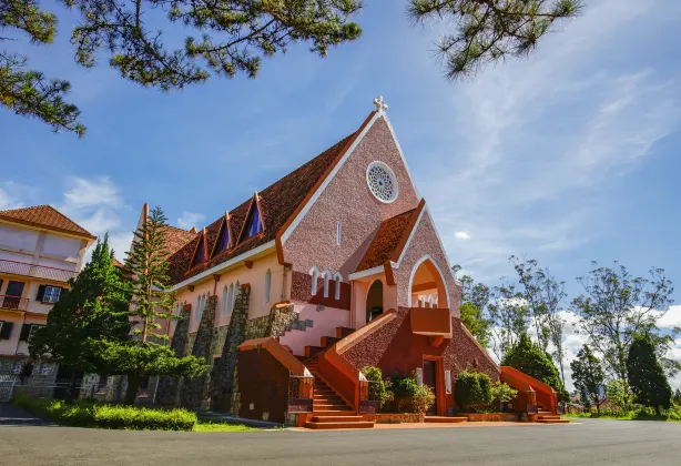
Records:
M57 18L41 10L37 0L0 0L0 104L19 115L42 120L54 131L83 135L85 126L78 122L80 110L64 101L70 84L45 78L28 68L28 57L3 50L13 39L6 37L4 31L16 32L35 44L49 44L55 30Z

